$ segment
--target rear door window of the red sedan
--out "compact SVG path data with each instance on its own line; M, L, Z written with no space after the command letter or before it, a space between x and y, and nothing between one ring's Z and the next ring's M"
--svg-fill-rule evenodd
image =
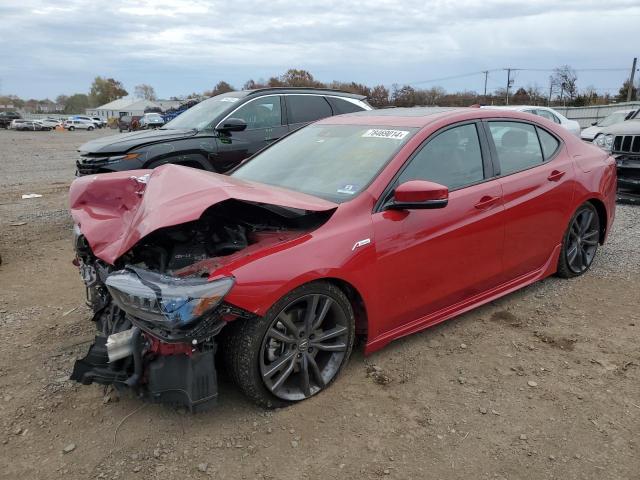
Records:
M533 125L520 122L489 122L502 175L525 170L543 162L542 149Z

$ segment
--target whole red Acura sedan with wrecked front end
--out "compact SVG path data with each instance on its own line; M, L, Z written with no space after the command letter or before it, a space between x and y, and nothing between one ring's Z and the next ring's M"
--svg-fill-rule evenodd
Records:
M230 176L165 165L80 178L76 263L100 333L72 378L204 408L219 348L254 401L303 400L335 380L356 335L371 353L585 273L615 190L602 150L541 117L477 108L331 117Z

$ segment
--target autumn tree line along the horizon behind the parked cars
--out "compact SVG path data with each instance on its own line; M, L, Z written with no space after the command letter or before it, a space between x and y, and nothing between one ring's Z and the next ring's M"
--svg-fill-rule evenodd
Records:
M629 81L625 81L620 87L618 94L599 94L592 86L583 89L578 88L578 76L576 71L569 65L563 65L554 70L549 77L548 88L542 88L538 84L519 87L517 89L501 88L487 93L486 95L474 90L464 90L458 92L447 92L440 86L431 88L416 88L412 85L392 85L387 88L384 85L373 87L357 82L321 82L307 70L289 69L279 76L270 77L267 80L246 81L241 89L249 90L266 87L312 87L312 88L332 88L351 93L365 95L369 103L377 108L385 107L411 107L411 106L452 106L462 107L473 104L504 105L564 105L564 106L585 106L603 105L614 101L624 102L627 99L627 89ZM211 90L202 93L192 93L180 97L171 97L172 100L201 99L211 97L221 93L236 90L234 86L226 81L219 81ZM88 93L76 93L73 95L59 95L55 102L45 100L23 100L15 95L0 97L0 105L13 104L18 109L29 109L31 111L51 112L52 108L63 113L82 113L87 108L94 108L104 105L118 98L127 96L128 92L123 84L113 78L96 77L91 84ZM157 96L154 88L148 84L140 84L134 88L134 96L140 99L156 100ZM636 86L632 87L632 100L639 99L639 92Z

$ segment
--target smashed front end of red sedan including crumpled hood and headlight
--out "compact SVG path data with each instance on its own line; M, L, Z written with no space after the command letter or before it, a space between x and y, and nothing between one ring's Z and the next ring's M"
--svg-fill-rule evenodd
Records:
M98 334L71 378L206 409L219 334L254 314L224 301L233 265L304 241L336 205L192 168L77 179L74 246Z

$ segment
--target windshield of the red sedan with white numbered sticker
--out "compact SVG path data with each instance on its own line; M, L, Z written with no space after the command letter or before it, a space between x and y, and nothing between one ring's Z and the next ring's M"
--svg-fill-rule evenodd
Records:
M341 203L365 189L416 131L314 124L259 153L232 176Z

